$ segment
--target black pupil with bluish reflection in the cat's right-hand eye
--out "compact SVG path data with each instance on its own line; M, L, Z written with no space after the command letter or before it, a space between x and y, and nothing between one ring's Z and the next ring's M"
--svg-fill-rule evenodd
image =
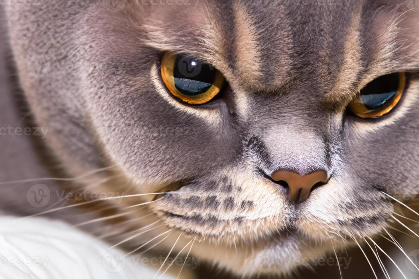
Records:
M398 73L378 77L362 88L362 103L369 110L376 109L396 95L398 85Z

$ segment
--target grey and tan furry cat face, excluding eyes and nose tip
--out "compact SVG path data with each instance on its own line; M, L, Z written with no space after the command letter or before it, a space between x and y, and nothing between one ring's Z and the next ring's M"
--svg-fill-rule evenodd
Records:
M10 5L8 19L22 87L67 171L116 165L131 187L99 187L167 193L118 205L153 201L137 225L173 229L163 247L194 238L191 253L241 274L259 272L256 255L269 253L282 273L289 257L379 233L393 212L381 191L418 192L418 140L405 128L419 118L419 13L394 2L49 3ZM174 97L165 53L215 67L225 79L217 97ZM34 55L47 74L28 68ZM398 72L406 88L390 113L347 113L363 87ZM272 179L281 170L327 179L298 203Z

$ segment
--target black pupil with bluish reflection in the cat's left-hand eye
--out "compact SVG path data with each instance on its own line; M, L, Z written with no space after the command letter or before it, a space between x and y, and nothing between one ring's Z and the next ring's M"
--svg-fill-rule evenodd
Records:
M175 87L186 96L196 96L206 92L214 83L216 70L187 56L176 57L173 68Z

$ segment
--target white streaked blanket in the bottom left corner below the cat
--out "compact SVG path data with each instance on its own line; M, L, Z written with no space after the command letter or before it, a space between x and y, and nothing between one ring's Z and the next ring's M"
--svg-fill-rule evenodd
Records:
M61 221L3 216L0 224L0 278L151 279L159 268L116 248L107 251L109 244ZM187 274L184 269L179 278Z

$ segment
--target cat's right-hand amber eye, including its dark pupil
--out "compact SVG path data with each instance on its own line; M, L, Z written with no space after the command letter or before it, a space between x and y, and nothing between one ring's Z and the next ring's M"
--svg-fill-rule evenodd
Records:
M406 85L403 72L386 74L368 83L349 104L349 111L360 118L389 113L398 103Z

